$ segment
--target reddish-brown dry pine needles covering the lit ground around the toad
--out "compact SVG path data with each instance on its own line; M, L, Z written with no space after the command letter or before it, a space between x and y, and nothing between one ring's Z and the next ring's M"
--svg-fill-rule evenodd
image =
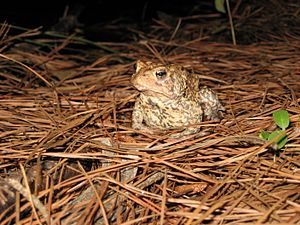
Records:
M226 114L199 125L209 135L171 140L132 130L133 63L118 54L90 62L24 44L1 55L1 204L12 187L27 191L11 204L21 198L18 213L1 211L2 223L299 223L300 43L149 43L127 45L122 56L182 64L218 93ZM272 143L257 135L275 129L271 115L280 108L291 126L274 160ZM132 168L137 175L121 182ZM14 177L23 183L11 184Z

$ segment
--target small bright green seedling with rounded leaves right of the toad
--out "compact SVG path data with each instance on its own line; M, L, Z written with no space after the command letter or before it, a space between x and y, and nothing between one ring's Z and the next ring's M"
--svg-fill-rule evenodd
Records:
M288 141L285 129L290 125L290 118L288 112L284 109L277 110L272 115L274 122L281 130L275 130L271 133L263 130L260 132L259 137L267 141L275 139L275 143L277 144L276 150L280 150Z

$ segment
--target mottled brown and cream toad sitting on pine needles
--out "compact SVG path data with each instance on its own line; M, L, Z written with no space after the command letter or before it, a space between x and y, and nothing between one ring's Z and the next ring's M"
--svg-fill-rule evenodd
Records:
M134 129L151 132L219 120L224 110L217 95L207 87L200 87L199 77L178 65L163 65L138 61L131 78L140 91L132 114ZM186 127L172 137L196 133L197 127Z

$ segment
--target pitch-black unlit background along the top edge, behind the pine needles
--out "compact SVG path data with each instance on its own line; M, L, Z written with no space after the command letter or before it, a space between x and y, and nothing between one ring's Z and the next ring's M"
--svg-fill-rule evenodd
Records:
M147 22L156 17L157 11L177 16L190 15L195 11L214 10L213 0L90 0L90 1L5 1L0 7L1 21L34 28L48 28L62 17L66 6L82 7L78 20L86 25L112 20L128 20L133 23ZM201 4L201 6L200 6ZM199 6L199 7L198 7Z

